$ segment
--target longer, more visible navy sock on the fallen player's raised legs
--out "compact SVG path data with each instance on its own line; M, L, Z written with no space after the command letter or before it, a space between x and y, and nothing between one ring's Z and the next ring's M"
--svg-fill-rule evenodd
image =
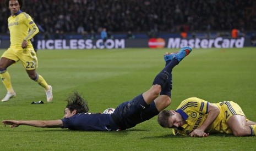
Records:
M164 88L165 83L167 82L167 80L171 80L171 73L172 73L172 69L178 65L179 61L176 58L173 58L171 60L170 63L168 63L168 65L162 69L162 71L156 75L153 85L155 84L159 84L161 85L161 88Z

